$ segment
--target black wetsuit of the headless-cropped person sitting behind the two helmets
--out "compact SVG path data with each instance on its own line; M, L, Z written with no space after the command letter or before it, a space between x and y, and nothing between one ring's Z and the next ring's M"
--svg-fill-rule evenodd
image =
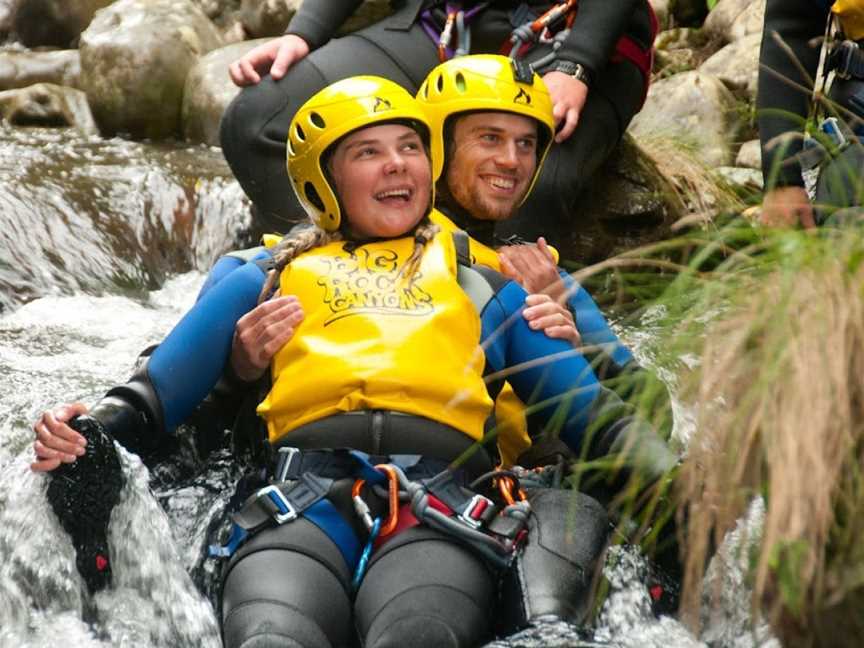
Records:
M435 44L417 23L420 11L433 3L404 0L396 13L342 38L331 39L360 0L305 2L287 33L306 40L312 51L280 81L265 76L245 88L222 120L222 150L244 191L252 199L264 226L285 230L303 211L285 172L285 133L297 108L333 81L356 74L380 75L414 92L438 64ZM463 2L468 8L472 2ZM510 14L521 2L498 0L469 23L471 53L498 53L513 29ZM530 1L534 14L551 3ZM537 185L519 213L499 228L504 235L525 238L545 235L555 244L557 232L578 219L580 190L611 153L644 96L640 69L616 54L627 36L639 47L651 46L651 17L644 0L582 0L570 35L559 57L581 63L592 85L579 125L572 137L554 146ZM539 58L542 47L528 54ZM611 61L618 62L611 62Z

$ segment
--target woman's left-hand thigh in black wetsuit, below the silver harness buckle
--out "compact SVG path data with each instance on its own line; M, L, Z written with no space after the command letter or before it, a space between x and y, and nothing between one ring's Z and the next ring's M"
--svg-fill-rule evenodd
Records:
M308 520L257 533L224 577L225 647L351 646L350 578L339 549Z

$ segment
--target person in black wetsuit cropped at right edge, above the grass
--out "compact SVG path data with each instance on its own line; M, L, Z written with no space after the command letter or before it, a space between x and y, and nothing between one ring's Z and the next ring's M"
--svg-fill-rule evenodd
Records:
M857 138L819 170L816 204L804 188L801 161L805 122L813 110L811 95L817 78L821 36L834 17L849 46L834 47L827 74L840 74L832 83L824 112L835 115L855 135L862 134L864 119L864 54L853 43L864 39L864 7L854 0L768 0L760 52L757 109L762 172L766 193L762 221L766 225L813 227L838 208L860 206L858 181L864 171L864 153ZM844 72L845 71L845 72ZM855 107L857 103L857 108ZM844 135L848 138L851 133Z

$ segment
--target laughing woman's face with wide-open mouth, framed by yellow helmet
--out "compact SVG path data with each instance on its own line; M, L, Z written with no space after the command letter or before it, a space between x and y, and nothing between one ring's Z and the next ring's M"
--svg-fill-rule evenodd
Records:
M402 236L429 210L429 158L420 135L403 124L351 133L336 145L329 171L343 215L357 236Z

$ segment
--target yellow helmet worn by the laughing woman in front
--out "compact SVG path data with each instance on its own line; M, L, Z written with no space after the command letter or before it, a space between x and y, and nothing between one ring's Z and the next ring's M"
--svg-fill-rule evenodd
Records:
M300 107L288 126L288 177L300 204L328 232L342 220L339 199L330 186L322 157L334 143L360 128L387 122L420 127L428 141L429 121L402 86L375 76L333 83Z

